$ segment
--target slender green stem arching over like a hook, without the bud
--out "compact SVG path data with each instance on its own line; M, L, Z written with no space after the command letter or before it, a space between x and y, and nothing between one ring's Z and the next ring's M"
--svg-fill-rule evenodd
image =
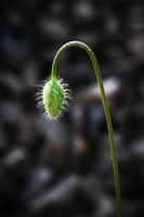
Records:
M115 145L115 139L114 139L112 117L110 117L109 106L108 106L107 98L106 98L104 86L103 86L103 79L102 79L102 76L101 76L99 63L96 61L96 58L95 58L93 51L90 49L90 47L88 47L86 43L82 43L80 41L70 41L70 42L67 42L64 46L62 46L61 49L55 54L55 58L53 60L52 79L56 78L57 64L58 64L62 52L67 50L68 48L71 48L71 47L79 47L79 48L83 49L84 51L87 51L87 53L89 54L89 56L92 61L93 68L95 71L95 76L97 78L97 85L99 85L99 88L101 90L101 98L102 98L102 103L103 103L105 118L106 118L106 123L107 123L107 129L108 129L110 155L112 155L115 189L116 189L117 216L121 217L122 212L121 212L121 192L120 192L120 181L119 181L119 171L118 171L118 158L117 158L117 152L116 152L116 145Z

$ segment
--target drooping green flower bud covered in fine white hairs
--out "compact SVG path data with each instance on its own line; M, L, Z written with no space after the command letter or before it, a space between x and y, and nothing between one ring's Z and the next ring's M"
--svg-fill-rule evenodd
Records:
M68 85L62 79L50 79L44 82L39 95L39 106L49 119L57 119L68 106L70 99Z

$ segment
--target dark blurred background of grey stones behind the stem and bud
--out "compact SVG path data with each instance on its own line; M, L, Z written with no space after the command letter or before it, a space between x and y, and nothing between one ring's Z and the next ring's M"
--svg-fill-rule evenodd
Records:
M88 55L58 75L73 100L58 122L36 107L57 49L97 58L119 157L123 216L144 216L144 1L0 0L0 217L114 217L115 189L100 92Z

